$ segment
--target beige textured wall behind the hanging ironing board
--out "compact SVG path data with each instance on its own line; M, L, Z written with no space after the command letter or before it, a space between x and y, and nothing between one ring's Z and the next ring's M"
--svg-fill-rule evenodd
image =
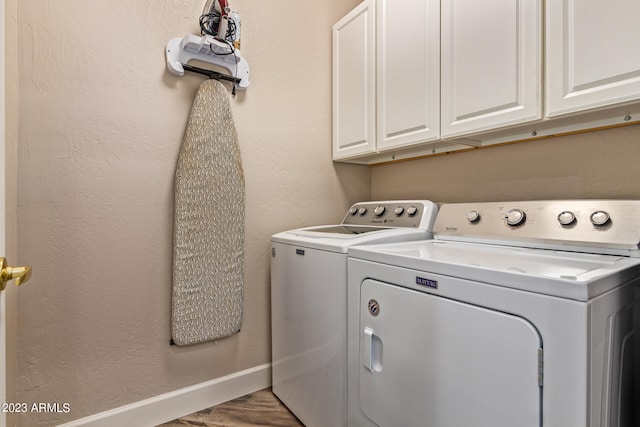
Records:
M170 347L173 175L201 76L164 47L204 0L12 0L19 67L21 402L52 425L270 362L269 239L335 222L370 170L331 162L331 25L358 1L234 0L251 86L232 100L246 177L242 331Z

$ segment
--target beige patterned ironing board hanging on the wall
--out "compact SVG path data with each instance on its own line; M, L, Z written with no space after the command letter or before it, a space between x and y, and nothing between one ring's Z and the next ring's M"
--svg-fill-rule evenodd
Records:
M198 89L175 176L172 338L177 345L233 335L242 326L244 176L229 96Z

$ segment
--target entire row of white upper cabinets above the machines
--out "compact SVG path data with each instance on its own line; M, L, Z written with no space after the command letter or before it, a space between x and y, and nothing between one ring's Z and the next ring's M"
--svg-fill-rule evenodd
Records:
M334 160L640 123L639 16L639 0L366 0L333 28Z

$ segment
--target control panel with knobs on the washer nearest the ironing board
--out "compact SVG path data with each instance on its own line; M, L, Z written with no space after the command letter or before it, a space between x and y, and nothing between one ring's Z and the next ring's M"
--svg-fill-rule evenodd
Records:
M428 200L360 202L349 208L342 224L430 228L437 210L437 206Z

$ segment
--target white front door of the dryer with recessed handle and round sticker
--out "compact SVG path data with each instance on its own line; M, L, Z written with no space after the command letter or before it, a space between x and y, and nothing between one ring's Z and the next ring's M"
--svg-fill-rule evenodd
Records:
M366 280L361 410L381 427L538 427L541 347L523 318Z

